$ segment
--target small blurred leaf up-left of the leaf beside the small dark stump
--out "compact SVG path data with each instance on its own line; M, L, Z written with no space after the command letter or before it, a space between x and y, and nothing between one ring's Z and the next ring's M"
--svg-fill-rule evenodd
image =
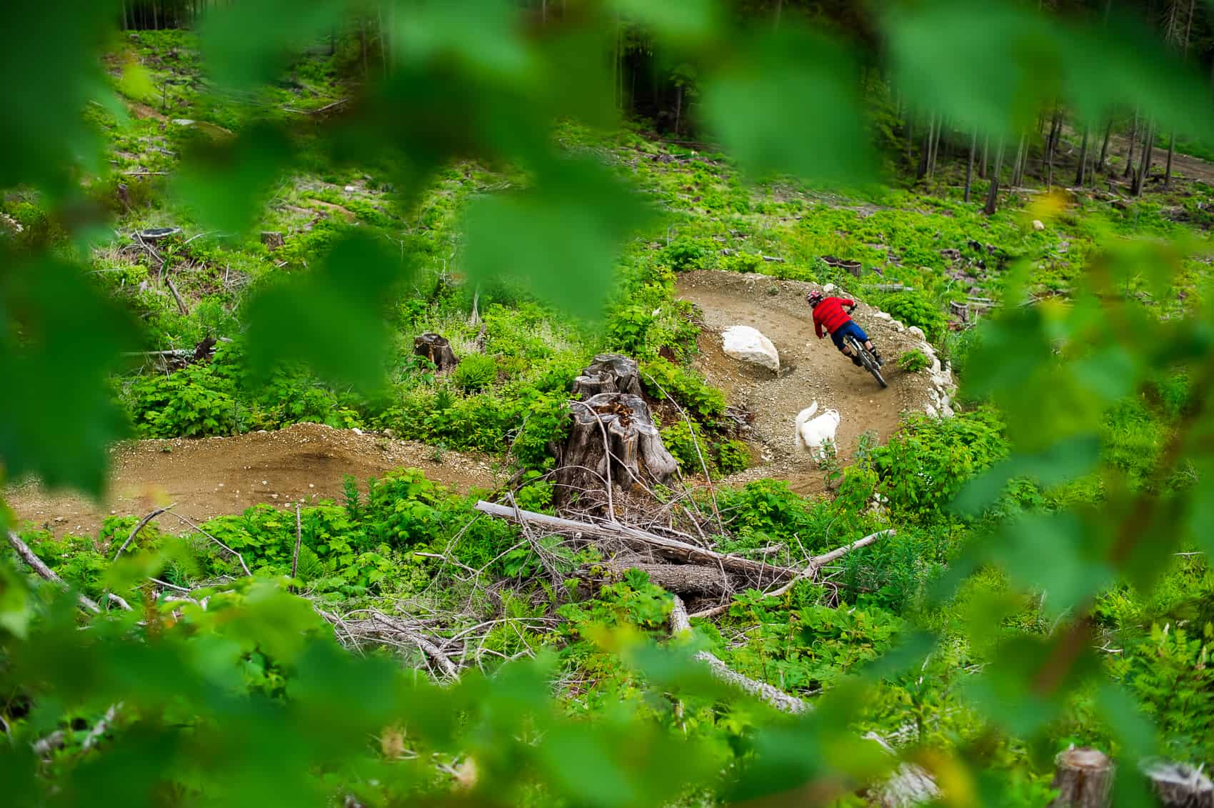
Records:
M205 226L244 232L290 163L282 132L259 126L231 143L203 149L183 166L176 190Z

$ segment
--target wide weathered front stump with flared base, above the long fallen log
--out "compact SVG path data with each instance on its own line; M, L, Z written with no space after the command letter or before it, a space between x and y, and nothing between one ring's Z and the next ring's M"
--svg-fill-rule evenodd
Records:
M660 484L679 468L641 396L600 392L571 401L569 408L573 424L557 453L557 504L578 497L579 505L602 507L608 485L630 490Z

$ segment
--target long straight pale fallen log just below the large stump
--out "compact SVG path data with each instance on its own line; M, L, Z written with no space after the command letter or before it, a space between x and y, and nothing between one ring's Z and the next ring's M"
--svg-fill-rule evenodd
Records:
M622 522L589 522L560 516L549 516L510 505L499 505L483 499L475 505L476 510L498 519L506 519L518 524L531 524L543 527L554 533L578 533L591 538L606 538L624 542L625 544L649 550L662 558L682 564L698 564L702 566L715 566L728 572L745 575L749 580L766 580L768 583L777 583L795 577L798 570L765 564L753 559L726 555L714 550L707 550L687 542L680 542L665 536L658 536L640 527L624 525Z

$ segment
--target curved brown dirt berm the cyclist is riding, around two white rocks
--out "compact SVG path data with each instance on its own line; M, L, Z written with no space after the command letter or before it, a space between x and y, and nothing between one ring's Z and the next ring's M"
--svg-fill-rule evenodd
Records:
M815 400L819 412L839 411L836 441L844 463L855 453L861 434L870 430L885 440L897 430L903 412L923 412L932 403L931 375L926 371L904 373L897 366L897 357L919 348L921 340L878 317L877 309L860 304L856 322L885 358L883 374L890 386L883 390L867 371L840 356L829 338L815 337L805 303L811 288L817 286L737 272L699 271L679 278L679 296L703 310L707 327L697 366L710 384L725 390L731 405L754 413L750 437L762 446L765 462L728 482L777 478L788 480L799 493L822 491L823 471L796 452L793 437L796 413ZM776 345L779 377L724 354L720 332L731 326L758 328Z

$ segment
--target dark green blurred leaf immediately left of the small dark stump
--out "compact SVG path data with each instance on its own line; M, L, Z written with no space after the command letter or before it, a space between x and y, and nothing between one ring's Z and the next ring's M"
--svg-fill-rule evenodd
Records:
M254 368L265 373L297 360L325 378L373 389L387 363L387 294L405 275L385 243L363 235L342 241L310 275L249 303Z

